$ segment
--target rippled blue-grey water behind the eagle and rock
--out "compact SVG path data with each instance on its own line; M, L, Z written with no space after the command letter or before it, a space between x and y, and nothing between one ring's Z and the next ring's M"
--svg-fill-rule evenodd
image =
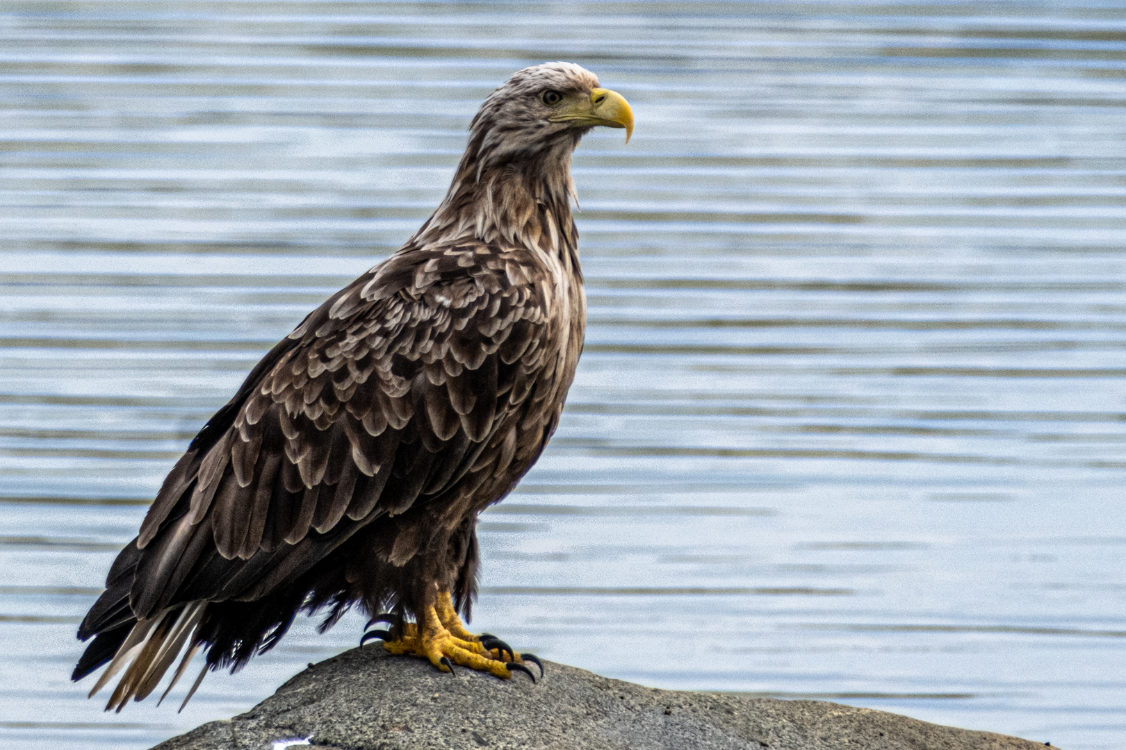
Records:
M1121 2L0 4L0 728L182 714L73 633L245 371L437 204L477 103L595 70L587 350L474 626L600 674L1126 735Z

